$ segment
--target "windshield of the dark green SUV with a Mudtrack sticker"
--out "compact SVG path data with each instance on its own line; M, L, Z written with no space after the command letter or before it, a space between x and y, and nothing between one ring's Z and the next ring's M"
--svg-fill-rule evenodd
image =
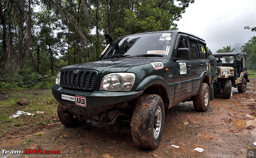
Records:
M108 58L168 58L173 32L145 33L116 39L103 59Z

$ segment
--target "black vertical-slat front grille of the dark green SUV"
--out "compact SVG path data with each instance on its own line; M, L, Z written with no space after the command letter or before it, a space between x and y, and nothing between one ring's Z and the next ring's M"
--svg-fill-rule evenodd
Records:
M78 90L94 90L98 72L78 69L79 71L74 73L75 70L77 69L68 69L61 72L60 86Z

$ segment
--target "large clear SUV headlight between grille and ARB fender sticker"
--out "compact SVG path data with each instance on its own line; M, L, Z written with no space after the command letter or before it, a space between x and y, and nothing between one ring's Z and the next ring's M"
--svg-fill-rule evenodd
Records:
M129 91L135 82L133 73L111 73L105 75L100 83L100 90Z

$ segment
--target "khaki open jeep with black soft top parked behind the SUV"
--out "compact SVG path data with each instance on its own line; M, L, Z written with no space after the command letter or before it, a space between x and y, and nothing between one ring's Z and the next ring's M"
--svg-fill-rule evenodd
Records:
M232 86L239 93L247 90L247 54L243 52L214 53L217 59L216 77L213 78L215 92L223 91L223 98L231 97Z

